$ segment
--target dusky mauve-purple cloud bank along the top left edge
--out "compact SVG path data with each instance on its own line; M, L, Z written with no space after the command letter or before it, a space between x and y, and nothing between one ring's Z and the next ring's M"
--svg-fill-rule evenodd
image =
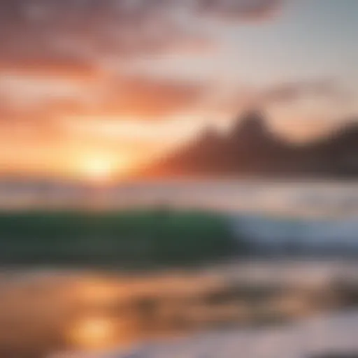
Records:
M1 0L0 62L93 62L203 49L198 16L264 17L278 0ZM180 17L184 14L185 19ZM187 16L185 16L185 14Z

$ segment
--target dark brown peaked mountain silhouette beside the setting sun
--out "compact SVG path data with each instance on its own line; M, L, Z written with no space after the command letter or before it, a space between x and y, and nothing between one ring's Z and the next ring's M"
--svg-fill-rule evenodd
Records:
M358 176L358 123L325 138L294 145L273 134L251 110L223 135L207 128L192 143L145 169L141 176Z

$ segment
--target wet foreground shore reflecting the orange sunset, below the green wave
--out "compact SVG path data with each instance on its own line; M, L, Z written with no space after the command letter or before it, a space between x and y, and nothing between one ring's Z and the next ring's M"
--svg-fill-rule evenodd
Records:
M347 262L241 263L157 275L3 273L0 357L41 358L214 328L283 324L357 306L357 273L358 265Z

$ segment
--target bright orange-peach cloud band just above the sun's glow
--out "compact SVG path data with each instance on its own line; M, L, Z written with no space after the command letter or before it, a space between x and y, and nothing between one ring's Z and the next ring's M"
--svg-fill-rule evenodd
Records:
M10 78L14 80L14 78ZM20 81L20 83L18 82ZM26 82L24 82L26 81ZM116 117L161 120L185 112L199 103L208 86L201 82L174 81L145 76L122 75L92 84L64 82L24 76L1 86L0 119L46 122L61 117ZM17 96L19 86L29 94ZM12 92L10 91L12 88Z

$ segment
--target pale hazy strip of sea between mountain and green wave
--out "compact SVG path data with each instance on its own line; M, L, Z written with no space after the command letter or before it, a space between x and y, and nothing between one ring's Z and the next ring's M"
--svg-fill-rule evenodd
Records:
M271 216L354 217L358 184L339 180L153 180L92 186L8 182L0 185L1 207L140 208L169 206Z

